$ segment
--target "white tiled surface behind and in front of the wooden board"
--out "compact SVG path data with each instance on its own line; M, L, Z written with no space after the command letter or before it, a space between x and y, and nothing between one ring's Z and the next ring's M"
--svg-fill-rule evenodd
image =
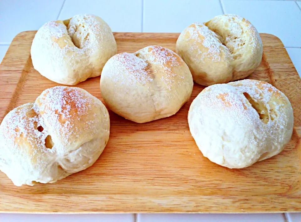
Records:
M102 17L114 32L181 32L193 22L234 13L278 36L301 75L301 2L269 0L0 0L0 61L13 37L79 13ZM0 221L301 221L295 214L0 214Z

